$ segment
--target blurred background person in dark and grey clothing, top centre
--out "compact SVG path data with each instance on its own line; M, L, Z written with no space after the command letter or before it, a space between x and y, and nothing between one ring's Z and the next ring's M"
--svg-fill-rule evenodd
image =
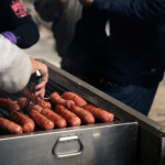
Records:
M76 23L81 18L82 6L78 0L36 0L34 7L42 20L53 22L55 50L62 58L66 58L68 45L75 35Z

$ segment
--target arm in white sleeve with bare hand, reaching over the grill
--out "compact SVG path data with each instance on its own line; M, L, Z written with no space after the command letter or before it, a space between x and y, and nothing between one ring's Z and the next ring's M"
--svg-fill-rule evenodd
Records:
M3 35L0 35L0 90L8 92L22 90L28 97L31 97L26 85L31 74L38 69L43 76L42 82L35 87L37 90L35 96L44 97L48 80L47 66L30 58L26 53L4 38Z

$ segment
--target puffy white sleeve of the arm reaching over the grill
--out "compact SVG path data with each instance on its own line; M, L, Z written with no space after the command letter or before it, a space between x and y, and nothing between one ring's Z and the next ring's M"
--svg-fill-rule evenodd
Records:
M29 55L0 34L0 90L22 90L29 82L31 69Z

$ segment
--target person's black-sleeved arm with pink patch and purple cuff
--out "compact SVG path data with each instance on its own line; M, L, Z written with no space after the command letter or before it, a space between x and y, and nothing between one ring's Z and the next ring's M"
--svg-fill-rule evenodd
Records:
M37 26L19 0L1 0L0 34L20 48L29 48L40 37Z

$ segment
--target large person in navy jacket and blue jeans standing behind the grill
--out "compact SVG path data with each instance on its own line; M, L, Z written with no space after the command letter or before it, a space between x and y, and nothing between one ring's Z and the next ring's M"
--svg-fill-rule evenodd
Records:
M164 77L165 2L79 1L82 16L62 68L147 116Z

